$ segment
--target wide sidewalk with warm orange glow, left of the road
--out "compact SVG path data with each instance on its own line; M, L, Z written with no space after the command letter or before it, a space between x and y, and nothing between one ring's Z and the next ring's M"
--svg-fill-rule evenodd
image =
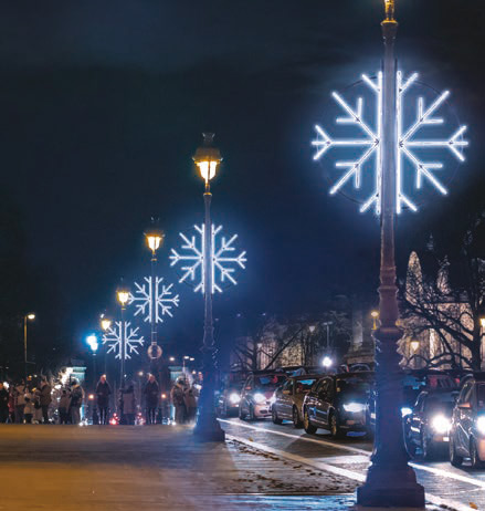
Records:
M183 427L0 426L2 511L344 511L356 486Z

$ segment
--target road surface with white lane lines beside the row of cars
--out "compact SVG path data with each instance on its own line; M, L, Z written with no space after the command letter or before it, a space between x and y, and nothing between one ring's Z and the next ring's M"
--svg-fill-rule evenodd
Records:
M292 424L274 425L271 420L254 423L238 418L222 420L225 431L249 445L267 449L293 461L307 462L333 473L341 473L362 480L369 465L372 445L359 437L333 440L329 434L319 429L317 435L307 435ZM476 471L466 463L457 469L449 461L413 461L418 480L426 489L434 503L451 504L460 511L479 509L485 511L485 470ZM477 508L471 507L471 503Z

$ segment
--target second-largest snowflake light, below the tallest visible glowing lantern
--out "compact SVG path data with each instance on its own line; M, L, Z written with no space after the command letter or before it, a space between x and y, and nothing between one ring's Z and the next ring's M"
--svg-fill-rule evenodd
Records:
M204 226L193 226L197 233L190 238L180 232L180 238L183 240L182 250L183 253L178 253L175 249L171 249L171 264L176 265L179 262L186 263L181 267L182 275L179 282L190 281L194 283L194 291L205 290L205 274L204 274ZM222 293L222 285L225 283L238 284L234 279L234 272L238 268L245 269L246 252L240 252L239 255L234 255L235 248L233 247L234 241L238 239L238 234L225 239L219 237L222 230L222 226L214 227L212 225L212 253L211 253L211 271L212 271L212 290Z

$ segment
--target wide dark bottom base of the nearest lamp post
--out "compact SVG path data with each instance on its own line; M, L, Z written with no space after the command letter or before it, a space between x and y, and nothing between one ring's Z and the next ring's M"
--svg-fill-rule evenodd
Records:
M357 488L356 509L366 508L424 510L424 488L418 484L411 467L404 470L370 467L366 483Z

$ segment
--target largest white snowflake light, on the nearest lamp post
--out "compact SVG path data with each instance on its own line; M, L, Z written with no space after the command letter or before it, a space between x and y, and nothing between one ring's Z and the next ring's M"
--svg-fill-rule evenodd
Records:
M404 194L404 163L411 166L414 170L414 186L420 189L425 179L432 185L437 191L443 195L447 194L446 188L435 176L434 171L443 168L443 164L440 161L425 161L420 153L415 152L415 148L421 149L437 149L447 148L450 152L460 160L464 161L463 148L468 145L463 139L463 134L466 131L466 126L460 126L458 129L453 133L447 139L435 138L435 139L420 139L417 137L418 132L422 131L429 125L443 124L442 117L433 117L434 113L443 105L445 100L449 97L450 92L443 92L436 100L434 100L429 106L425 106L424 98L418 97L417 101L417 117L414 123L410 126L403 126L403 107L404 107L404 95L407 90L417 82L418 73L412 74L405 81L402 77L402 73L397 73L397 176L396 176L396 199L397 199L397 212L400 213L403 207L410 208L412 211L417 211L417 205L411 198ZM371 126L363 117L363 98L357 100L356 107L350 106L338 93L334 92L333 97L347 114L344 117L336 119L337 124L348 124L357 126L363 136L361 138L331 138L320 126L316 125L317 138L312 142L312 145L316 147L314 159L319 159L328 149L331 147L349 147L349 148L362 148L361 153L355 160L349 161L337 161L335 165L337 168L345 169L342 176L330 188L330 195L339 191L350 179L354 180L354 188L360 189L362 182L362 173L365 171L365 164L375 158L375 176L373 176L373 191L370 197L367 197L360 211L367 211L371 206L375 207L376 213L379 215L381 210L381 178L382 178L382 73L378 73L375 80L367 75L362 75L363 83L376 94L377 100L377 121L376 126ZM367 168L367 167L366 167ZM408 176L405 176L408 177Z

